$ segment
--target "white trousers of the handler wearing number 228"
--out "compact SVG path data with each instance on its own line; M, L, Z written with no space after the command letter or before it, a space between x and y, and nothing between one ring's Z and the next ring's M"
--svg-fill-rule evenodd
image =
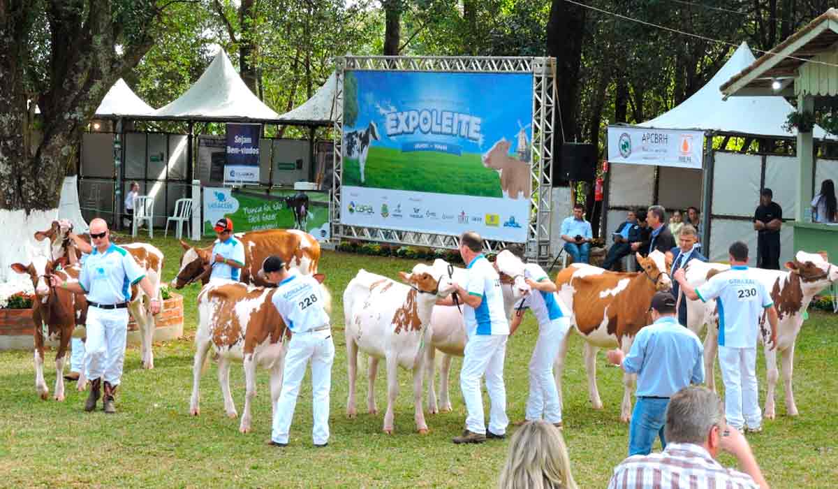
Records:
M288 443L288 432L291 430L291 420L297 406L297 394L300 393L300 382L303 381L309 358L312 361L312 438L314 445L328 442L328 403L329 391L332 388L334 341L331 331L323 330L294 333L288 342L282 374L282 392L273 412L271 440L277 443Z

